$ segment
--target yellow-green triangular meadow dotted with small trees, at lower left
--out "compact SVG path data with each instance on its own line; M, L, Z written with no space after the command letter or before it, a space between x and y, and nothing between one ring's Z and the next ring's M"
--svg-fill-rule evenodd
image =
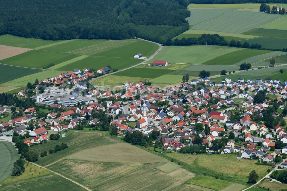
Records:
M27 180L30 178L36 178L38 176L45 176L48 174L52 174L51 171L40 168L36 165L33 165L32 163L25 162L24 167L25 167L25 171L22 175L20 175L20 176L9 176L7 179L5 179L3 182L1 182L1 184L11 184L12 182L18 182L21 180Z

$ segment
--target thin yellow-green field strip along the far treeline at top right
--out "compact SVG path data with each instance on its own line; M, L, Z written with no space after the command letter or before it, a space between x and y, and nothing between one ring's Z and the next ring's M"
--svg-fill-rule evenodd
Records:
M238 4L194 4L191 3L187 8L189 9L258 9L260 3L238 3ZM270 7L278 6L274 3L267 3Z

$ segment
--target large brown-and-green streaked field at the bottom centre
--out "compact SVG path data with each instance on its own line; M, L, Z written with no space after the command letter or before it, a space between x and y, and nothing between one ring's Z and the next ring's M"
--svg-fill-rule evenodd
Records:
M174 190L194 176L183 168L171 173L156 168L163 164L134 165L64 159L49 168L92 190Z

